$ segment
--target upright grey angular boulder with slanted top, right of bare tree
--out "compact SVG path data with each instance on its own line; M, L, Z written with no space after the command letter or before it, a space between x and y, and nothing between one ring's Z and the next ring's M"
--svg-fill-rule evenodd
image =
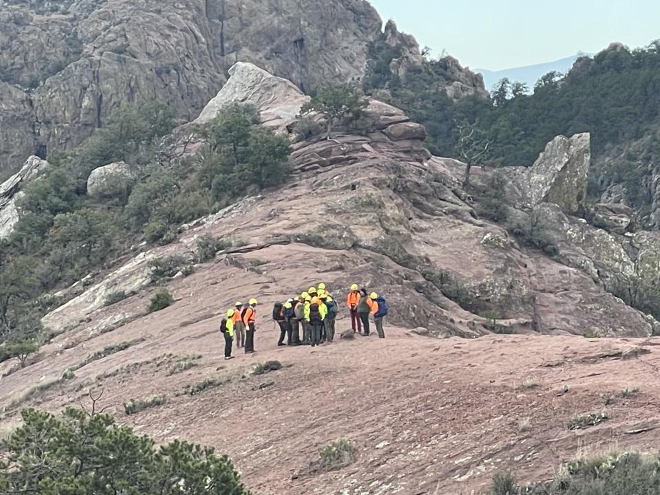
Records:
M533 166L507 169L514 202L520 207L554 203L566 214L580 212L586 201L590 162L589 133L555 137Z

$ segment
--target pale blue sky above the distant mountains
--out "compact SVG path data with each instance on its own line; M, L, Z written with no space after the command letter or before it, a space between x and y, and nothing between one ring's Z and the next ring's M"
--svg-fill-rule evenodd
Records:
M660 39L659 0L370 0L384 21L472 69L500 70Z

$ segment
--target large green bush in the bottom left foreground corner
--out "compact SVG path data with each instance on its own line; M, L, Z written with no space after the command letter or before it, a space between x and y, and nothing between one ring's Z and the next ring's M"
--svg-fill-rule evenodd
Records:
M0 466L2 492L249 494L228 457L212 448L181 440L156 445L109 415L81 409L61 416L25 409L22 417L4 443L7 458L21 462Z

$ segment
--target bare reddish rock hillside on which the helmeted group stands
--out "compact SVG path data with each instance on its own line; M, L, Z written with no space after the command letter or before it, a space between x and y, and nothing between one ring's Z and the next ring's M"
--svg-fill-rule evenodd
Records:
M614 206L591 223L573 216L585 206L588 135L557 137L528 170L501 170L505 186L474 168L468 195L465 165L430 155L426 130L395 107L370 100L362 133L342 126L331 140L320 129L300 138L292 102L309 97L250 64L232 78L205 112L223 118L219 103L240 100L256 105L263 126L290 132L287 181L180 225L163 245L133 245L54 294L43 318L50 340L25 368L0 364L5 428L23 406L57 410L102 389L123 423L157 440L210 443L245 483L273 495L484 492L499 470L543 481L584 443L653 445L657 391L647 379L657 342L632 338L660 329L644 306L660 236ZM201 159L208 137L190 131L176 129L159 155L175 166ZM205 234L225 243L193 261ZM153 260L183 264L154 281ZM386 294L387 338L276 347L272 304L319 281L340 296L355 281ZM162 287L174 304L148 314ZM628 290L634 300L622 298ZM258 353L219 362L219 318L252 296ZM338 331L346 328L344 316ZM186 359L192 367L172 374ZM270 359L285 368L250 374ZM206 378L209 390L184 393ZM573 415L600 412L602 395L635 387L638 396L608 400L608 422L567 429ZM154 394L167 404L122 412ZM318 449L338 437L355 441L358 462L319 472Z

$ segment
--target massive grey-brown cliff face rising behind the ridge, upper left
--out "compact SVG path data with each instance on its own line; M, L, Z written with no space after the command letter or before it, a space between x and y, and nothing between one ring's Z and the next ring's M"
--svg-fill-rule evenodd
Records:
M323 81L360 78L369 43L382 29L364 0L2 5L1 178L32 153L45 156L78 144L121 102L162 100L181 120L192 120L237 61L255 63L303 91ZM396 31L391 36L406 41L411 59L419 57L412 37ZM466 74L456 79L470 80Z

